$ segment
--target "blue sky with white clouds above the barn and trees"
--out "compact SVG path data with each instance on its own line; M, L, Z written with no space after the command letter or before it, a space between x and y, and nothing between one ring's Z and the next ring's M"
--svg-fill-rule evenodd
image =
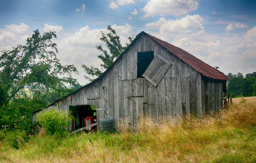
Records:
M0 0L0 50L24 44L32 31L56 31L64 65L100 67L95 46L100 31L127 36L145 31L169 42L224 74L256 71L256 1L220 0ZM1 55L1 54L0 54Z

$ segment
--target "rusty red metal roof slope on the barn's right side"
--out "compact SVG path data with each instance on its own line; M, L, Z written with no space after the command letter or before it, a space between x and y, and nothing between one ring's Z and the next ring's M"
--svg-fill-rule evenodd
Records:
M207 76L208 78L221 79L221 80L230 79L229 76L226 76L225 74L223 74L223 72L218 71L216 68L213 68L212 66L201 61L200 59L196 58L194 55L186 52L185 50L180 49L172 44L169 44L166 41L160 40L159 38L151 36L148 33L146 33L146 35L148 35L153 40L155 40L156 42L164 46L171 53L174 53L182 61L184 61L185 63L188 63L188 65L192 66L197 71L201 72L201 74L203 74L204 76Z

